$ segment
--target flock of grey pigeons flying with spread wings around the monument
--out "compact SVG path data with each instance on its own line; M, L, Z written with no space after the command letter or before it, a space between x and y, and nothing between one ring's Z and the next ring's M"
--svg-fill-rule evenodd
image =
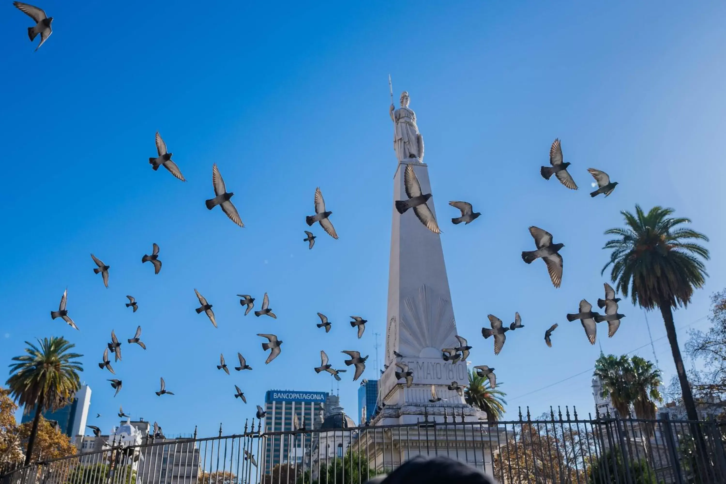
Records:
M33 41L36 36L41 36L40 44L38 44L38 47L36 47L37 51L37 49L44 44L44 42L49 38L52 33L51 24L53 21L53 17L48 17L43 9L33 7L29 4L24 4L20 1L14 1L13 4L15 5L15 7L20 9L20 11L30 16L36 22L36 25L28 28L28 36L30 37L31 41ZM174 161L171 159L172 154L168 152L166 143L163 141L159 133L156 133L155 135L155 145L157 149L157 156L149 158L149 163L150 165L152 165L152 170L158 171L158 168L163 166L169 173L171 173L171 175L176 177L176 179L179 179L180 181L187 181L182 175L179 166L176 165L176 163L174 163ZM578 187L571 174L568 172L568 167L570 165L571 163L566 163L563 161L560 140L555 139L555 141L552 143L552 147L550 148L550 166L542 166L542 168L540 169L540 173L542 174L542 177L546 180L549 180L552 175L554 175L555 178L557 178L560 183L566 186L568 189L576 190L578 189ZM604 171L596 170L595 168L589 168L587 171L592 175L592 177L595 179L595 183L597 184L597 189L595 189L594 192L590 193L591 197L596 197L599 194L604 194L605 197L608 197L608 195L613 192L613 189L615 189L616 185L618 184L618 182L616 181L610 181L610 177ZM214 197L205 201L205 206L208 208L208 210L213 210L213 208L219 205L220 209L227 215L227 217L232 222L237 224L237 226L244 227L245 225L244 223L242 223L240 213L237 211L237 208L234 207L234 204L231 201L232 197L234 196L234 192L227 192L227 186L225 185L224 179L222 179L221 173L219 172L219 168L217 168L216 164L212 166L212 187ZM431 194L423 193L423 190L421 189L421 185L417 179L412 164L407 165L404 171L404 189L408 198L407 200L396 200L396 210L401 215L403 215L409 209L412 209L415 216L421 221L421 223L423 223L424 226L426 226L435 234L441 234L441 229L439 229L439 223L436 221L436 217L433 215L433 212L427 204L428 200L431 198ZM449 205L456 208L457 210L460 210L460 216L452 218L452 223L454 224L468 224L481 216L481 213L474 212L473 206L469 202L452 201L449 202ZM333 237L333 239L338 239L338 234L335 231L335 227L333 226L332 221L330 221L330 216L332 215L332 213L333 212L327 210L325 206L325 200L322 196L322 192L319 188L317 188L314 194L314 214L311 216L306 216L306 224L308 226L313 226L314 223L318 223L319 226L328 235L330 235L330 237ZM309 249L312 249L315 245L315 239L317 238L317 236L315 236L311 231L308 230L305 230L304 233L306 234L306 237L303 239L303 242L308 242ZM529 264L536 261L538 258L541 258L547 266L547 272L550 274L552 284L554 285L554 287L560 287L563 274L563 258L562 255L560 255L560 250L562 249L562 247L564 247L564 245L562 243L553 243L552 234L550 234L550 232L548 231L545 231L544 229L540 229L539 227L529 227L529 233L534 238L536 250L523 251L523 261ZM105 264L94 254L91 254L91 259L97 266L93 269L94 273L101 274L104 286L108 287L110 266ZM152 263L152 266L154 267L154 274L159 274L162 268L162 263L159 260L158 245L153 244L151 255L144 255L142 257L142 263L146 262ZM217 327L214 312L212 310L212 305L208 303L208 300L204 298L204 296L201 295L200 292L196 289L195 294L200 303L200 307L195 308L195 311L197 313L205 313L213 326ZM250 295L237 296L240 298L240 305L245 307L244 315L247 316L250 311L252 311L255 307L255 298L252 298ZM136 299L131 295L127 295L126 298L129 299L129 303L126 303L126 307L132 308L132 311L135 313L139 308ZM613 288L610 287L609 284L605 283L605 298L597 300L598 307L605 308L604 315L592 311L592 305L588 303L587 300L583 299L579 303L579 312L567 314L566 317L568 321L575 321L579 319L582 323L582 327L584 328L585 335L587 335L587 339L590 341L591 344L595 344L597 323L603 321L608 322L608 337L612 337L619 328L620 320L624 317L624 315L618 313L619 300L619 298L615 298L615 291L613 290ZM76 323L73 321L73 319L68 316L67 304L68 289L63 292L58 311L51 311L51 318L61 318L67 324L69 324L70 327L73 327L73 329L78 329L78 326L76 326ZM269 307L269 304L269 296L267 295L267 293L265 293L262 300L261 308L258 311L254 312L255 316L269 316L271 318L277 319L276 314L272 311L272 308ZM326 333L330 332L332 324L327 319L327 316L322 313L317 313L317 315L320 319L320 323L317 324L317 327L325 328ZM522 324L519 313L515 313L515 321L513 321L513 323L511 323L508 327L505 326L502 323L502 320L497 318L497 316L489 314L488 317L490 327L482 328L481 334L484 336L485 339L489 337L494 338L494 355L498 355L505 344L506 332L514 331L515 329L521 329L524 326ZM358 338L361 338L364 334L365 324L367 323L367 320L363 319L361 316L351 316L351 321L349 322L351 324L351 327L357 330ZM550 338L552 336L552 332L557 327L558 324L552 324L552 326L544 333L544 341L550 348L552 347L552 341ZM135 343L145 350L146 345L144 344L144 342L142 342L141 335L142 327L139 326L136 328L136 333L134 334L134 337L129 338L127 342L129 344ZM261 346L264 351L269 350L269 355L267 356L265 361L265 364L269 364L275 358L277 358L277 356L280 356L281 346L283 342L279 339L279 337L277 337L277 335L260 333L258 334L258 336L263 337L267 340L266 343L261 343ZM442 348L441 358L444 361L451 361L452 364L455 364L457 361L466 361L466 359L468 358L469 350L472 347L468 345L467 340L458 335L457 341L459 345L454 348ZM102 362L98 365L100 369L107 369L111 374L115 374L115 370L113 369L113 366L111 365L109 359L109 351L112 351L114 353L114 362L121 361L121 342L118 340L113 330L111 332L111 342L107 343L107 347L103 352ZM345 353L347 356L349 356L349 358L344 360L343 363L346 364L346 366L354 366L355 372L353 380L358 380L358 378L363 374L365 370L365 363L368 356L362 357L359 351L355 350L343 350L342 353ZM403 356L397 352L394 353L396 353L396 370L400 370L394 372L396 380L404 380L405 385L407 385L407 387L410 387L413 384L414 374L409 366L407 366L407 364L399 361L401 358L403 358ZM237 358L239 359L240 366L234 367L236 371L241 372L243 370L252 370L252 367L247 364L247 361L241 353L237 353ZM340 381L340 373L346 372L346 369L333 368L333 365L330 364L329 358L325 351L320 351L320 358L320 366L315 367L314 371L318 374L322 372L328 373L332 375L335 380ZM385 368L388 368L388 366L386 365ZM477 374L480 377L486 377L489 380L492 388L496 386L497 377L494 374L494 368L486 365L474 366L473 368L476 370ZM230 374L229 368L225 363L223 354L220 354L219 365L217 365L217 369L223 370L225 373ZM383 370L381 372L383 373ZM122 380L118 379L110 379L108 381L110 382L112 389L115 390L115 397L121 391L121 388L123 387L123 382ZM464 387L465 386L459 385L459 383L455 381L452 382L451 385L448 385L449 390L456 391L459 395L462 395ZM240 398L242 402L247 403L247 398L245 397L245 394L242 392L240 387L234 385L234 389L234 398ZM163 377L160 377L160 389L155 393L158 396L174 395L174 393L172 393L171 391L166 390L166 382L164 381ZM434 385L431 385L430 401L434 403L442 400L445 399L437 396L436 387ZM385 403L383 405L385 405ZM264 411L264 409L261 408L261 406L257 406L256 417L258 419L263 418L265 416L265 413L266 412ZM123 408L119 409L118 416L128 417L128 415L123 413ZM100 417L100 414L97 414L97 417ZM93 430L94 435L100 435L101 431L98 427L93 425L89 425L88 427ZM299 424L298 427L300 427ZM157 422L154 422L153 435L156 437L162 436L161 427L158 426Z

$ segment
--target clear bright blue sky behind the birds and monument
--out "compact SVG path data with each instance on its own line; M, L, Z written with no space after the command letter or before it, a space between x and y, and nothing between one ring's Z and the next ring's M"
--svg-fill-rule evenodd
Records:
M601 297L603 231L621 225L619 210L670 206L711 237L711 277L675 313L682 342L688 327L707 326L709 295L726 286L724 4L41 7L55 20L38 52L28 17L9 1L0 15L0 356L9 363L35 337L76 343L91 412L103 414L89 423L104 430L118 422L121 403L167 435L195 424L213 435L219 422L237 432L265 390L330 390L312 371L320 349L338 365L343 349L374 358L374 333L385 334L396 168L389 73L396 99L403 89L411 94L425 138L457 327L474 347L470 359L497 368L507 417L520 405L534 414L550 405L592 408L587 370L600 349L564 316L580 299ZM186 184L151 170L157 130ZM539 176L556 137L578 192ZM213 163L247 228L204 207ZM590 167L620 182L608 199L587 196ZM304 216L316 186L340 240L317 229L308 250ZM447 224L456 215L448 200L468 200L483 215ZM530 225L566 245L559 290L543 263L521 261L534 247ZM140 262L152 242L164 264L158 276ZM91 252L111 266L109 289L92 272ZM49 318L65 287L80 332ZM214 305L219 329L193 311L195 288ZM278 319L243 317L235 295L261 301L264 292ZM139 301L134 314L127 294ZM637 353L653 358L643 311L620 308L627 318L616 336L600 330L603 350L646 345ZM335 324L329 335L314 327L317 311ZM515 311L526 328L494 357L480 336L486 314L510 321ZM362 340L346 327L352 314L370 321ZM660 315L648 318L669 380ZM554 322L550 349L542 337ZM96 363L111 329L125 339L137 324L149 349L123 346L115 367L124 387L113 398L110 375ZM269 366L258 332L285 341ZM232 362L237 351L253 372L217 371L219 353ZM160 376L174 397L154 395ZM375 377L372 364L364 376ZM232 397L235 384L247 406ZM349 414L358 387L340 383Z

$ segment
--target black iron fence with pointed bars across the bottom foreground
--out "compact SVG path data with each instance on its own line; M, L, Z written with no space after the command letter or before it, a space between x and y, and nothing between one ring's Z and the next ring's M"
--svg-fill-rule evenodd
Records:
M516 484L726 483L726 422L597 418L420 422L240 435L96 441L81 454L0 467L0 484L362 484L417 455L446 455Z

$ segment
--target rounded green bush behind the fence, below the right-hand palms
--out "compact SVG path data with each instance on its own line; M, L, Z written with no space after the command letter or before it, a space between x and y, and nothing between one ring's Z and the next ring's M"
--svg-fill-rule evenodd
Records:
M619 447L608 449L605 455L594 459L587 475L587 484L659 484L656 471L644 459L629 458L625 466Z

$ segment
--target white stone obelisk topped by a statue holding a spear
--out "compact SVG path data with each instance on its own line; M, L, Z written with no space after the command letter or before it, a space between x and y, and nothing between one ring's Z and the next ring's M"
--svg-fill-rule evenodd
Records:
M393 176L393 202L409 198L404 188L408 165L413 165L421 192L433 193L428 166L423 163L423 136L418 131L415 112L409 108L406 91L401 94L401 107L391 105L390 115L398 160ZM431 197L427 204L436 216L434 200L436 197ZM379 406L383 408L371 423L409 424L422 420L425 414L441 420L445 412L475 420L481 414L468 406L456 390L448 389L452 382L468 385L466 362L452 364L444 361L441 353L442 348L458 345L441 236L428 229L414 210L401 214L393 202L385 355L388 369L378 384ZM394 373L401 372L400 367L396 368L399 363L413 372L411 387L407 387L405 380L396 379ZM431 402L431 385L441 401Z

